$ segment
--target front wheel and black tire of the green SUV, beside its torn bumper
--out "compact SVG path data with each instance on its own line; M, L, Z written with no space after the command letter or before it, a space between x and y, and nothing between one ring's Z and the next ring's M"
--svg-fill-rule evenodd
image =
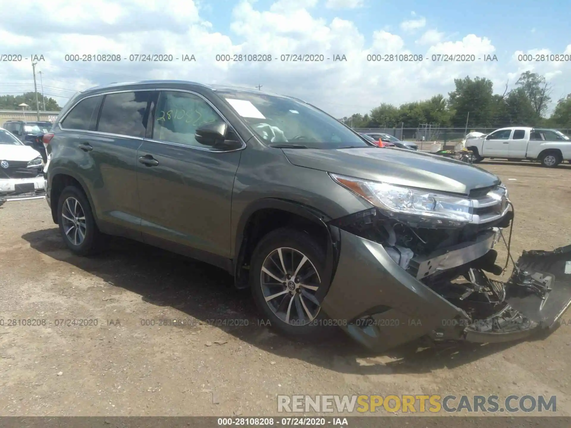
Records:
M260 240L252 255L252 296L272 327L297 340L321 340L336 330L315 298L325 286L325 252L313 237L280 228Z

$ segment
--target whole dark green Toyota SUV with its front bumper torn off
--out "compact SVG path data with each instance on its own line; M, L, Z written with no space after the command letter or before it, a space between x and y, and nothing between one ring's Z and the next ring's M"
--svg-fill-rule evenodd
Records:
M514 217L497 176L381 150L299 99L101 86L74 96L44 143L46 199L71 251L121 235L217 265L293 337L514 340L571 302L571 246L524 252L508 281L488 275L504 270L494 247Z

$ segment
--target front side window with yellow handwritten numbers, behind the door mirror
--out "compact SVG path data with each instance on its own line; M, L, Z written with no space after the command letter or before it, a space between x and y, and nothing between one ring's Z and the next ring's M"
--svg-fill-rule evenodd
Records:
M197 142L194 134L199 127L220 120L223 119L214 108L198 95L160 91L152 138L211 149L210 146Z

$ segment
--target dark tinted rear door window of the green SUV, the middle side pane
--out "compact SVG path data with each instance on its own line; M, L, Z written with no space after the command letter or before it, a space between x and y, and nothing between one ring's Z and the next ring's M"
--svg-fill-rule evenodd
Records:
M147 102L152 91L107 94L97 131L143 138L147 127Z

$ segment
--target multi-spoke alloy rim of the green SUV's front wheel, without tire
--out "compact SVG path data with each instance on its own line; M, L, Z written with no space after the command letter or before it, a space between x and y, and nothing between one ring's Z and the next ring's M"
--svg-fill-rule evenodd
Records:
M287 247L272 251L262 264L260 284L267 305L286 324L303 326L319 314L315 294L321 278L302 252Z

